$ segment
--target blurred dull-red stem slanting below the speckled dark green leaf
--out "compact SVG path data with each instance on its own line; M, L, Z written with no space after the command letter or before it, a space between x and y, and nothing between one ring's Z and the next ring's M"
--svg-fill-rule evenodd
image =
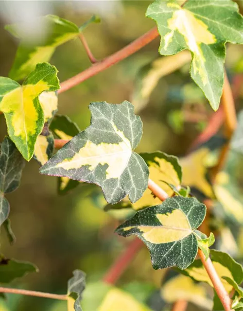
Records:
M103 277L103 281L108 284L115 284L123 272L129 266L130 262L138 255L143 242L135 238L125 249L124 253L112 264Z

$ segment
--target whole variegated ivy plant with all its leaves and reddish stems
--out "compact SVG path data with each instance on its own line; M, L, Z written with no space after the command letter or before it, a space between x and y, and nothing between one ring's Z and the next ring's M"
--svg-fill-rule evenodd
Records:
M148 6L146 17L156 22L155 28L101 61L95 60L82 33L90 23L99 21L96 16L80 27L54 15L39 17L49 30L45 40L29 44L20 37L9 77L0 77L0 112L7 126L0 148L0 226L13 243L10 204L5 196L19 187L26 161L34 158L40 165L40 174L58 177L59 194L88 183L96 185L90 187L90 196L95 198L100 195L99 186L106 201L100 204L103 212L128 212L122 214L123 222L115 233L135 237L111 272L98 282L88 281L87 290L86 274L74 270L67 294L36 294L7 287L0 287L0 293L67 300L68 311L158 310L138 298L131 288L125 290L114 284L145 244L155 270L168 272L174 268L174 275L162 284L159 293L169 306L174 303L174 311L182 310L178 306L183 300L207 308L213 306L213 310L243 310L242 258L238 256L239 262L235 261L222 242L222 232L227 227L231 230L227 222L230 215L234 216L230 224L237 228L233 238L241 237L243 224L242 204L234 198L236 187L232 190L229 183L232 162L235 163L230 161L230 154L242 154L242 113L237 127L224 67L226 43L243 44L243 17L232 0L156 0ZM15 24L5 28L19 38L18 27ZM158 36L158 52L162 56L142 66L136 76L131 96L136 111L150 104L152 91L162 77L183 67L213 110L221 103L219 111L223 111L223 116L219 126L225 120L226 136L220 143L211 147L210 139L216 137L213 130L208 130L209 121L201 134L208 139L193 145L190 154L178 158L164 150L139 153L136 148L142 139L143 123L135 113L133 101L92 102L88 106L90 125L82 131L68 116L57 114L63 92L137 52ZM81 38L95 64L59 84L58 70L49 62L58 46L76 37ZM0 283L4 286L37 271L32 263L0 255ZM203 283L213 288L211 296L207 296ZM141 285L138 288L143 291Z

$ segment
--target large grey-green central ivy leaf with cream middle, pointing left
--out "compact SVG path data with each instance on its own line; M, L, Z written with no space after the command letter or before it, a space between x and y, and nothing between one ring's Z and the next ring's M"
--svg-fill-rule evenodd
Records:
M129 102L91 103L91 125L72 138L40 173L66 176L102 187L108 203L126 195L136 202L147 188L148 167L135 149L142 122Z

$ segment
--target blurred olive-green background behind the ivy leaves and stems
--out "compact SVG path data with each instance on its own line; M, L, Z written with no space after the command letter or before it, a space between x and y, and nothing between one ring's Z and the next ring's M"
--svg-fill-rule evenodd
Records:
M238 2L243 4L243 1ZM34 40L36 36L44 35L41 27L35 24L36 15L57 14L82 25L95 13L102 22L90 25L84 34L95 57L103 59L154 27L154 22L145 17L149 3L147 0L0 1L0 75L8 75L18 44L4 30L7 23L25 21L22 31ZM90 102L135 100L134 87L139 70L158 57L158 45L159 39L156 39L121 63L60 94L59 113L68 115L83 130L90 123ZM227 50L226 68L232 82L242 70L239 61L243 47L227 45ZM59 70L61 82L90 66L78 38L60 46L51 63ZM183 156L207 125L213 112L191 81L188 69L189 65L185 65L160 79L148 102L143 107L136 105L144 131L138 152L161 150ZM236 104L240 110L243 90L241 86L237 87ZM5 134L5 120L0 115L1 139ZM31 261L39 268L39 273L13 282L13 287L65 294L67 280L74 269L85 271L88 282L104 276L129 242L129 239L125 241L113 233L127 213L104 212L104 199L98 187L95 194L90 194L89 188L77 187L69 194L60 196L57 194L57 178L40 175L38 169L37 162L32 159L24 169L19 189L7 195L17 242L10 246L5 233L1 232L0 252L8 258ZM139 290L140 294L145 295L153 289L155 296L151 307L161 311L165 309L156 293L162 275L163 271L153 271L149 253L144 248L118 285L130 286L138 296L136 284L146 283L144 291ZM66 310L65 302L7 296L7 302L0 307L2 311ZM190 308L198 310L193 305Z

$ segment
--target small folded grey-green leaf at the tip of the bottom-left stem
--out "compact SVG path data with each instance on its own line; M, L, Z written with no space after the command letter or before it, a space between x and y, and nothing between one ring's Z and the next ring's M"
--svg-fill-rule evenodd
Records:
M73 271L73 277L71 277L68 281L68 295L75 299L74 305L71 302L70 305L74 306L75 311L82 311L80 301L81 301L81 295L85 289L86 286L86 274L81 270L74 270ZM72 299L70 300L72 301ZM69 304L69 302L68 302ZM69 310L73 310L72 308L69 308Z

